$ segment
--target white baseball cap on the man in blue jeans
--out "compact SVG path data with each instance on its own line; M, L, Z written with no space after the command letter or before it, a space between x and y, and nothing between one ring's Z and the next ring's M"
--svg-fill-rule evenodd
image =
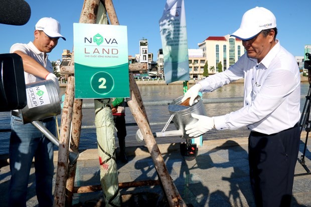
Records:
M60 34L61 25L59 24L59 22L51 17L41 18L36 24L36 30L43 31L47 36L51 38L63 38L64 40L66 40L66 38L64 38Z

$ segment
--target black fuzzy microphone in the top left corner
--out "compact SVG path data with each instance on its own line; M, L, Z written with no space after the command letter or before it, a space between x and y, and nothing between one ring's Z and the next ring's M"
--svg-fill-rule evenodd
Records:
M0 24L25 25L30 15L30 6L24 0L0 0Z

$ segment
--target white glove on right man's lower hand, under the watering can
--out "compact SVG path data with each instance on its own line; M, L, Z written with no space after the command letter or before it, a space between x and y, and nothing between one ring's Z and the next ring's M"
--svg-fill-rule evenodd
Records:
M198 137L214 128L214 117L194 113L191 116L198 119L198 121L185 127L186 134L189 134L190 137Z

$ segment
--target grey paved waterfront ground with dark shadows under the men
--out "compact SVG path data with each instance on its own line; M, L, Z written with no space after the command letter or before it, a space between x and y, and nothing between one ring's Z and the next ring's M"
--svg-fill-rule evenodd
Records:
M298 158L304 149L306 134L301 134ZM208 140L199 146L198 156L187 161L179 152L179 143L161 144L159 148L166 167L181 197L188 206L255 206L248 177L247 137ZM311 168L311 145L307 145L305 165ZM156 169L147 152L147 148L127 147L128 163L117 161L119 182L158 179ZM7 206L7 193L10 180L9 166L1 162L0 203ZM57 166L57 151L55 152ZM55 168L56 175L56 168ZM292 206L311 206L311 175L297 161L293 185ZM32 168L27 206L38 206L34 168ZM89 149L80 153L75 186L98 185L99 161L97 149ZM55 182L55 177L54 177ZM159 185L122 188L120 190L124 206L163 206L164 193ZM95 206L102 196L101 191L76 193L74 206ZM136 204L133 204L136 199ZM142 203L137 205L137 200ZM151 202L150 202L151 200Z

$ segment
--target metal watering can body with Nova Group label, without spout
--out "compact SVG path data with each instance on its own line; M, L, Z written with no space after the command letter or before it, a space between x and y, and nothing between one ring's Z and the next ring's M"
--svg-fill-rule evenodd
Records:
M57 89L52 80L26 84L27 105L20 110L24 124L61 113Z

